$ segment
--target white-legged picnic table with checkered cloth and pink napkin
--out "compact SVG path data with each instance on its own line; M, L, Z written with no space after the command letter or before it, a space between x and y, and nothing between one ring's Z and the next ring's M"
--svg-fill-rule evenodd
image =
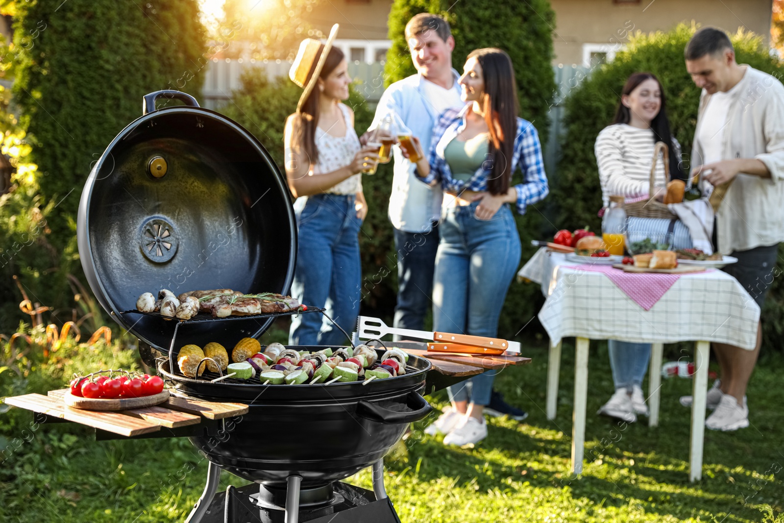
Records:
M555 418L561 340L576 338L572 473L583 471L590 340L652 343L648 384L651 427L659 423L663 344L693 341L689 479L699 480L710 342L753 350L760 307L735 278L717 269L688 274L629 274L608 266L575 263L566 256L539 249L517 276L542 285L546 296L539 321L550 336L548 419Z

